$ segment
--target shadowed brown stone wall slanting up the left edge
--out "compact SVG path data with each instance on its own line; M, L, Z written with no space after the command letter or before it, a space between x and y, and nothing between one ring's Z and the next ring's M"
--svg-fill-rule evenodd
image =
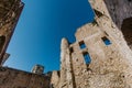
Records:
M21 0L0 1L0 64L23 9Z

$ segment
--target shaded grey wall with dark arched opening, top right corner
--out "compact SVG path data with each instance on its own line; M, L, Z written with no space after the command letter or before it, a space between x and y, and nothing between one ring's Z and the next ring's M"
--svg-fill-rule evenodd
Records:
M105 0L112 21L132 48L132 0ZM124 8L125 7L125 8Z

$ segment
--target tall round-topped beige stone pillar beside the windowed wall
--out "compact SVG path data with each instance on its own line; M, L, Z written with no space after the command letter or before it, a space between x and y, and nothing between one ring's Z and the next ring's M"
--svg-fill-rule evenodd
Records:
M74 88L73 87L73 77L72 77L72 62L70 62L70 52L69 44L66 38L62 40L61 45L61 84L59 88Z

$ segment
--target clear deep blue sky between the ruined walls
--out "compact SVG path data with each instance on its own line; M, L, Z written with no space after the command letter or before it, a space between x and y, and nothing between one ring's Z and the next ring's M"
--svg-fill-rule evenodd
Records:
M22 0L25 3L8 47L4 66L30 72L35 64L45 73L59 69L61 40L75 42L76 29L94 19L87 0Z

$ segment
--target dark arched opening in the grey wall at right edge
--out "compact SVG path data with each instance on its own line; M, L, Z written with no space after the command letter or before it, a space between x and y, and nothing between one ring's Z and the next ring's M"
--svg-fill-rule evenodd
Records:
M128 45L132 45L132 18L127 18L123 20L121 31Z

